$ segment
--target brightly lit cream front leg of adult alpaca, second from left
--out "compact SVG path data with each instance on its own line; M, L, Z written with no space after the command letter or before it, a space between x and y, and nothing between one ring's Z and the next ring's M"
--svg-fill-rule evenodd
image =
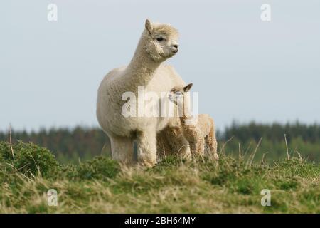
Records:
M137 133L138 161L147 167L156 165L156 130Z

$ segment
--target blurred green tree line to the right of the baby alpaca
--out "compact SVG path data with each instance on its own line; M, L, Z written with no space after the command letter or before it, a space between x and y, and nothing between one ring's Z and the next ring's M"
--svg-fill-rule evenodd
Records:
M284 135L286 135L284 137ZM290 155L301 153L310 161L320 162L320 125L304 125L299 122L294 124L263 125L250 123L238 125L233 123L226 128L224 133L218 133L220 142L226 142L227 153L236 155L238 150L242 152L255 150L258 147L255 160L261 160L265 154L268 162L287 157L287 150ZM287 140L287 144L285 142Z

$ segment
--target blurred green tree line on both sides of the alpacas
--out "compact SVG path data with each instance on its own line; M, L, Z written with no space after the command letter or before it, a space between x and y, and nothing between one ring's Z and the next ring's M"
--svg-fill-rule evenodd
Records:
M284 140L286 134L287 145ZM228 155L238 157L239 144L242 154L248 154L261 143L257 149L255 160L259 161L265 154L265 160L274 160L287 157L287 147L290 155L297 155L297 151L309 161L320 162L320 125L304 125L299 122L280 125L264 125L249 123L238 125L233 123L223 132L218 132L219 147L225 145L224 150ZM72 130L68 128L40 130L27 133L26 131L13 131L14 143L33 142L52 151L59 162L77 164L78 160L91 160L97 155L110 153L110 141L99 128L81 128ZM231 138L231 140L230 140ZM0 132L0 141L9 141L8 132ZM103 149L103 150L102 150Z

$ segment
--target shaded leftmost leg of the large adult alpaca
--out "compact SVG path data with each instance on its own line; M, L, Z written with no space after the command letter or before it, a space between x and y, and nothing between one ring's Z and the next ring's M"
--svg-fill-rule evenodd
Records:
M130 164L133 162L132 138L110 137L112 158L119 162Z

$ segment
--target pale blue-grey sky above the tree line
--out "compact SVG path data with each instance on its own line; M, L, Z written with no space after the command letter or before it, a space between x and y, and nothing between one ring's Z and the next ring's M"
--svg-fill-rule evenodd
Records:
M48 4L58 20L48 21ZM262 21L270 4L271 21ZM97 88L131 60L146 18L170 23L169 64L219 129L320 123L320 1L1 1L0 130L97 126Z

